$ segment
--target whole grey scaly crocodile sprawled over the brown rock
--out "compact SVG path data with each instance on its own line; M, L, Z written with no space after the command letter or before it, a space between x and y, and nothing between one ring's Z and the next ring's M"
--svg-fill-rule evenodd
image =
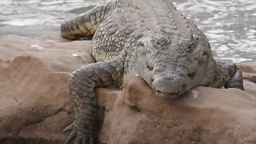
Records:
M94 142L95 89L122 89L125 74L141 77L160 98L195 86L243 90L242 71L215 60L206 35L170 0L112 0L62 23L61 36L91 40L95 63L70 75L75 118L66 143Z

